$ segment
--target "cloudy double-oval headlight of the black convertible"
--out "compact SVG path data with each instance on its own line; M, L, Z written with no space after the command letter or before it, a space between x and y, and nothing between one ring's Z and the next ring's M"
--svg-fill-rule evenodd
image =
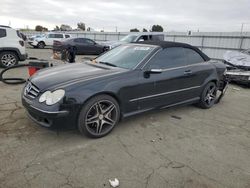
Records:
M39 102L45 102L47 105L53 105L59 102L64 97L65 91L63 89L58 89L56 91L46 91L39 98Z

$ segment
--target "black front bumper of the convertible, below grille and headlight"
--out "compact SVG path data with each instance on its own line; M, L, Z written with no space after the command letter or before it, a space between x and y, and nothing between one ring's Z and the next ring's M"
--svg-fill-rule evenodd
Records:
M22 104L26 108L28 116L37 124L43 127L56 127L57 125L73 122L73 116L68 110L45 110L35 107L33 101L26 97L22 97Z

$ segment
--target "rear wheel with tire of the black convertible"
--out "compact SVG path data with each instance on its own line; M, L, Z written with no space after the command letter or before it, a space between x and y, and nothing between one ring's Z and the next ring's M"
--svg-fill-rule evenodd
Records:
M211 108L216 101L217 86L214 82L209 82L203 89L199 106L203 109Z

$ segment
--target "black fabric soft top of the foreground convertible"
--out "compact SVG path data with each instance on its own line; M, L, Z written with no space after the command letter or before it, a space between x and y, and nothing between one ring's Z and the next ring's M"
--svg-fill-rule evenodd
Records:
M186 43L180 43L180 42L169 42L169 41L141 41L141 42L136 42L138 44L149 44L149 45L156 45L160 46L161 48L171 48L171 47L183 47L183 48L190 48L196 51L198 54L200 54L201 57L205 61L209 61L210 58L204 54L199 48L195 46L191 46L190 44Z

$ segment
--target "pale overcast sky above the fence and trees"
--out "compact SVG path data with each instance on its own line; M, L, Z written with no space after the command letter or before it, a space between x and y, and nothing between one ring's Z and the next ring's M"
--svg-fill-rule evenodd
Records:
M78 22L97 31L250 31L250 0L0 0L0 25L49 29Z

